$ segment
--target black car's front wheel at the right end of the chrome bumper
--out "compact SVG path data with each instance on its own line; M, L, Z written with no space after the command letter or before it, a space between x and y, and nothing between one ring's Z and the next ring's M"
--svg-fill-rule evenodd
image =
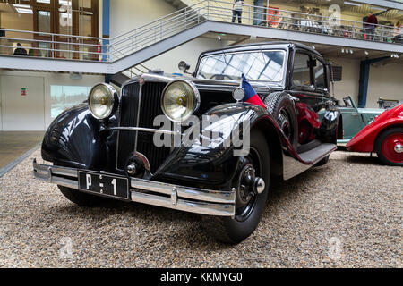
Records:
M254 190L250 178L260 177L265 186ZM241 157L233 187L236 188L236 215L231 217L201 216L203 228L216 240L236 244L249 237L260 222L270 184L270 151L260 130L251 131L248 156Z

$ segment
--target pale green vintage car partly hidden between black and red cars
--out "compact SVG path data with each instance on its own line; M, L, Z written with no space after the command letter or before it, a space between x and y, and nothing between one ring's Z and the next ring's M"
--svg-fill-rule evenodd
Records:
M385 109L382 108L358 108L353 97L348 96L343 98L342 103L338 103L342 118L344 139L338 139L338 144L345 144L350 139L356 136L360 130L373 121L373 119L382 114ZM322 120L324 111L320 112L319 120Z

